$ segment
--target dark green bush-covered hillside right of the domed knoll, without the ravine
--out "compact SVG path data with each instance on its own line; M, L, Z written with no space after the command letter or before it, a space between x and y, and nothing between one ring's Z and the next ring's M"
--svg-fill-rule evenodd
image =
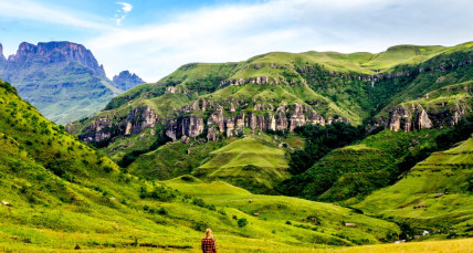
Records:
M388 186L398 173L397 164L433 145L437 129L418 131L383 130L358 144L333 150L304 172L301 196L313 200L350 203L370 191Z

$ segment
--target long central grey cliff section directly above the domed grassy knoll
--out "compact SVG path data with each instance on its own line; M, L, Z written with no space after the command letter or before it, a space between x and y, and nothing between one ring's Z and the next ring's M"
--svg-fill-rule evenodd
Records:
M188 116L171 120L166 128L166 135L174 140L181 136L196 138L204 134L209 141L219 139L219 136L243 135L244 128L253 130L293 131L298 126L306 124L325 125L335 120L347 122L346 118L329 117L327 120L309 106L295 103L274 106L272 104L248 105L235 99L224 104L211 101L196 101L186 106L181 113L196 114L199 112L211 113L208 118L200 116Z

